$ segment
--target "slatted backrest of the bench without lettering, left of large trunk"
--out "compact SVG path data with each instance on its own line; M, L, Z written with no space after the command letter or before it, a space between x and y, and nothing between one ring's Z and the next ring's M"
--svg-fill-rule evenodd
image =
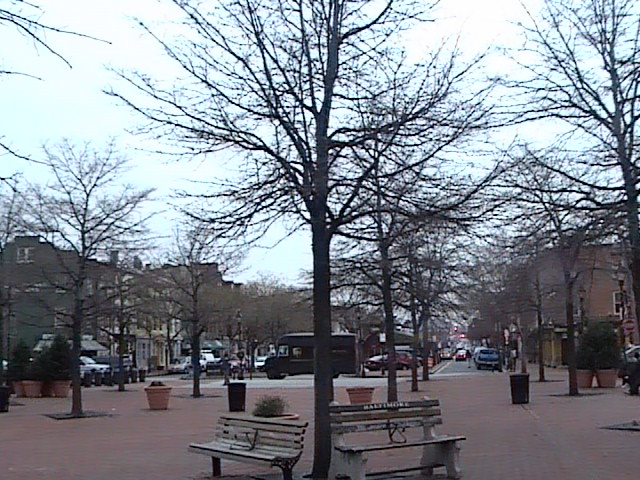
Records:
M223 415L218 420L217 437L247 450L258 446L302 450L307 426L308 422L298 420Z

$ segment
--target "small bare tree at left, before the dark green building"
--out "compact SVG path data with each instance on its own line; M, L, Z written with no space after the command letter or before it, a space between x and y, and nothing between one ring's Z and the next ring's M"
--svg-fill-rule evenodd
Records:
M152 191L132 185L118 188L126 162L113 143L98 151L89 144L63 141L55 149L45 148L42 163L51 173L51 182L28 191L29 229L55 247L63 277L56 287L73 298L72 416L83 415L80 350L89 265L111 250L133 249L132 242L146 233L148 216L140 213L140 207Z

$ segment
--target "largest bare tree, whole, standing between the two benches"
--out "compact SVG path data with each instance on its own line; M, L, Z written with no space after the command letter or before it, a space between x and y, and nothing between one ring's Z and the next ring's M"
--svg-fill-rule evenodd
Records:
M293 229L310 230L316 342L312 476L326 478L333 390L330 245L360 214L357 192L371 175L370 165L354 162L350 151L383 131L409 139L434 121L454 129L466 125L482 116L486 91L467 90L460 109L444 118L435 115L443 93L476 63L460 65L458 52L417 62L405 55L401 35L426 19L428 2L227 0L211 8L198 1L174 3L188 34L171 43L148 31L184 81L164 86L144 73L123 73L151 103L138 101L133 92L109 93L149 121L144 131L176 142L168 148L173 153L229 148L245 154L238 178L222 181L212 194L228 208L202 213L203 218L227 220L234 238L263 233L282 219ZM396 115L382 123L363 118L364 107L394 86L403 92L391 102Z

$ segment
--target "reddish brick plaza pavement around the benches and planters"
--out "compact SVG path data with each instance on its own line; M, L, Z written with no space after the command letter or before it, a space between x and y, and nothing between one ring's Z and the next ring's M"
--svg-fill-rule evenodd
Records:
M640 420L640 398L621 388L585 390L566 396L566 370L547 369L551 380L535 381L531 401L512 405L507 373L434 376L411 393L407 378L399 381L401 400L424 395L441 401L444 424L439 432L465 435L461 461L464 479L584 480L640 478L640 432L601 427ZM358 381L360 379L353 379ZM378 380L380 383L380 381ZM56 421L43 414L67 412L70 399L13 399L10 412L0 415L1 480L201 480L210 474L210 460L187 451L193 441L207 440L220 413L227 411L226 389L204 380L201 399L189 398L188 381L170 382L168 411L150 411L142 384L127 392L100 387L83 390L86 410L109 417ZM247 408L264 393L284 395L290 410L312 420L309 388L253 388L248 381ZM208 387L209 385L210 387ZM265 385L265 382L262 383ZM267 385L271 385L268 383ZM376 389L374 400L385 400ZM347 402L344 387L336 399ZM312 463L313 431L295 471L307 473ZM415 451L385 452L369 466L393 468L415 462ZM223 461L229 478L278 478L276 469ZM276 475L274 475L276 474Z

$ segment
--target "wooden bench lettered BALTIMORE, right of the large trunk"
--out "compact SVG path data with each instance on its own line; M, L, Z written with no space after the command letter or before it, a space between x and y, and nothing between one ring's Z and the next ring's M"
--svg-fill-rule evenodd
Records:
M437 435L435 425L442 424L438 400L370 403L364 405L331 405L332 455L330 479L364 480L365 475L420 470L432 476L435 467L445 467L447 478L460 478L460 446L462 436ZM396 470L365 473L369 452L399 448L420 448L420 463ZM412 455L406 457L411 459Z

